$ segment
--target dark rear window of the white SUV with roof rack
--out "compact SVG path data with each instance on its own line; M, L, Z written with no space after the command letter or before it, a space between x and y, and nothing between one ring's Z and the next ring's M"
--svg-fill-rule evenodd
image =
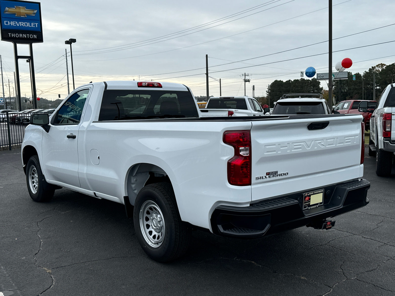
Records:
M273 115L325 114L321 102L277 102Z

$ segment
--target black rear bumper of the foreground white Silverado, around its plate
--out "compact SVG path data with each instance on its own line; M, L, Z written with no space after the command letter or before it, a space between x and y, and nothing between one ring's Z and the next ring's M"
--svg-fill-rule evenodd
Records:
M303 193L265 200L247 207L218 206L211 215L211 228L217 235L258 238L312 225L327 217L366 206L369 203L369 188L370 182L364 179L324 187L324 204L308 210L302 210Z

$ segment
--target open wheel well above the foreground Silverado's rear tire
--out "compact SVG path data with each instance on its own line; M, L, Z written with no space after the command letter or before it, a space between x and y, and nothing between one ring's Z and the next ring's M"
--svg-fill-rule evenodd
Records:
M167 172L151 163L136 163L132 165L125 178L125 193L129 202L134 206L137 194L145 185L166 182L173 186Z

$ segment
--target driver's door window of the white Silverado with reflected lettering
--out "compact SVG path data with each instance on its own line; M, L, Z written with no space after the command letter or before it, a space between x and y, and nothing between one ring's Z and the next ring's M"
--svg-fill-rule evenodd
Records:
M89 90L80 90L60 107L54 124L79 124Z

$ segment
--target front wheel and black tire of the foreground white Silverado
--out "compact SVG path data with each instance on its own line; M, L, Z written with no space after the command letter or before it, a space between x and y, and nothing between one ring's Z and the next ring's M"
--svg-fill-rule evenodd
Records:
M26 184L30 197L37 202L50 201L55 193L55 189L45 181L37 155L30 157L26 164Z

